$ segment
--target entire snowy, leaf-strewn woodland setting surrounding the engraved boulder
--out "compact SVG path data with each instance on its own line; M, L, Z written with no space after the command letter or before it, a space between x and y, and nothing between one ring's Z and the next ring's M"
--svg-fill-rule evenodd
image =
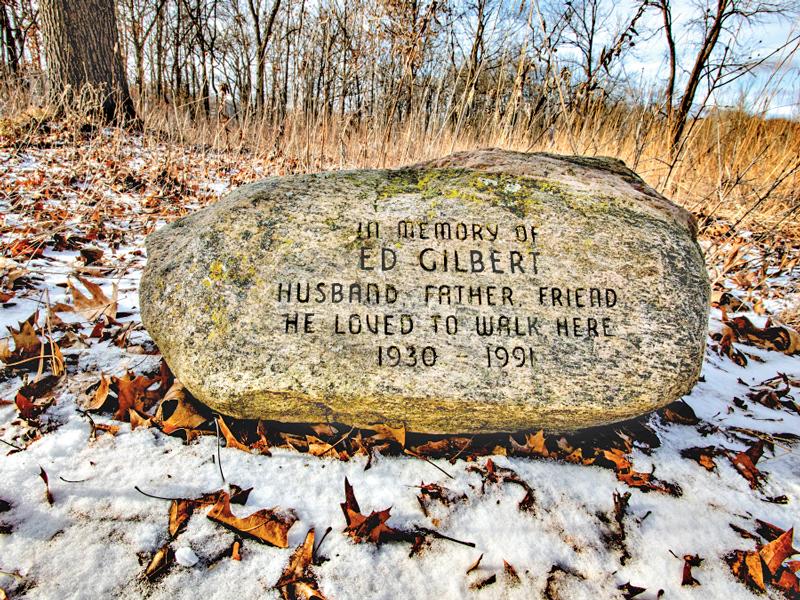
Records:
M0 0L0 600L800 598L793 4ZM173 377L150 232L480 146L616 156L693 211L691 394L423 436L222 417Z

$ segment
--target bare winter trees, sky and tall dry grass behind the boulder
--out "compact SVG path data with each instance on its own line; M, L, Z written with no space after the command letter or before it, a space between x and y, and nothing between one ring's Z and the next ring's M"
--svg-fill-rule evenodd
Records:
M81 127L114 92L145 143L281 172L485 146L611 155L703 215L785 228L800 125L764 117L797 100L797 14L790 0L5 0L0 102L21 121L6 128L64 106ZM46 50L93 29L112 39L91 49L99 66L51 51L48 89ZM642 63L658 48L658 68Z

